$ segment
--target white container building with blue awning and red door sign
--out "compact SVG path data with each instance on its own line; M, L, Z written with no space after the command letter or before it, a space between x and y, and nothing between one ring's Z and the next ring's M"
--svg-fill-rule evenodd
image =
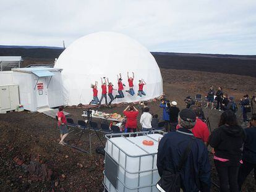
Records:
M12 69L13 82L19 85L20 104L24 109L37 111L64 104L61 71L49 67Z

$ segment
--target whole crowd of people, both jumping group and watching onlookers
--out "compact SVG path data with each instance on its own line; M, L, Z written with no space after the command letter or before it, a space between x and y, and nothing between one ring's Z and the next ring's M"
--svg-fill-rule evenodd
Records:
M129 77L129 90L127 93L134 96L133 77ZM123 86L121 74L118 77L118 93L113 96L113 85L109 83L108 78L101 78L102 95L98 101L96 94L92 102L98 101L99 106L103 98L106 99L106 83L112 89L108 88L108 96L111 102L116 98L122 98ZM103 82L105 79L105 82ZM140 83L145 81L140 80ZM93 86L93 90L95 90ZM143 95L143 86L139 88ZM93 91L95 93L95 91ZM138 95L140 95L138 92ZM145 93L144 93L145 94ZM140 96L141 96L140 95ZM197 99L196 99L197 100ZM180 111L176 101L169 101L165 97L161 99L160 108L163 109L164 130L168 132L161 138L158 146L157 167L161 178L166 182L173 178L170 175L179 175L179 184L183 191L210 191L211 186L211 166L209 161L208 146L212 148L213 161L220 181L220 191L241 191L245 178L252 169L256 170L256 114L247 119L248 108L251 101L247 94L240 100L243 120L248 121L247 128L242 128L237 122L237 105L233 96L224 93L221 86L215 94L213 86L210 87L207 96L207 107L223 110L220 115L218 128L210 133L207 123L205 123L205 114L203 112L202 102L194 101L190 96L185 99L186 109ZM256 100L255 100L256 101ZM96 104L96 102L95 102ZM157 114L151 114L147 101L140 102L139 109L134 105L127 106L123 114L126 115L126 132L137 131L137 119L139 110L142 110L139 123L141 131L158 130ZM66 118L63 114L63 107L59 108L58 123L61 130L61 141L64 144L68 132L66 127ZM182 166L181 165L182 162ZM255 172L256 173L256 172ZM169 176L166 176L169 175ZM255 180L256 181L256 180ZM169 184L168 184L169 183ZM164 186L173 184L169 180ZM168 191L168 190L166 190Z

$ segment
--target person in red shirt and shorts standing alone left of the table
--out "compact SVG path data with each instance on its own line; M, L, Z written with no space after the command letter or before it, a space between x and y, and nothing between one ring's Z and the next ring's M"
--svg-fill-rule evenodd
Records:
M63 110L64 106L60 106L59 112L57 113L59 130L61 131L61 141L59 141L59 144L62 145L66 144L64 143L64 139L67 137L67 135L69 135L69 131L67 130L67 119Z

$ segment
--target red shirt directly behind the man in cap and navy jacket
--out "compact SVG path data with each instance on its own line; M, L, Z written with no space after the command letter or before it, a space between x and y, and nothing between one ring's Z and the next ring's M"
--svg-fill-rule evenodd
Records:
M179 125L177 125L176 129L179 129ZM210 132L208 130L207 124L204 123L201 119L197 119L195 122L195 127L192 128L192 133L196 138L203 140L203 142L208 141L208 137Z

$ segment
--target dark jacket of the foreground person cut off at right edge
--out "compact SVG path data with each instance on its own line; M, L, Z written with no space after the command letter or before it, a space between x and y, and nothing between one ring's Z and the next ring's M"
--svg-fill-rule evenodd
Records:
M242 160L256 164L256 127L245 128L244 131L246 139L242 151Z

